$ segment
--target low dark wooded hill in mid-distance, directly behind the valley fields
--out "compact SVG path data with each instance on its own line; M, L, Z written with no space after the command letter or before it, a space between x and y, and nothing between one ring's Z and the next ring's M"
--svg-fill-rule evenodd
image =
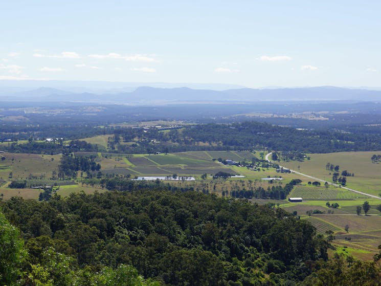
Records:
M125 145L120 141L139 144ZM158 143L160 142L160 143ZM200 146L199 143L209 143ZM366 151L381 148L379 134L342 133L334 130L298 130L255 121L231 124L199 124L160 132L157 129L114 130L112 148L127 153L180 152L190 150L282 150L285 160L302 160L303 153ZM295 153L293 151L298 151ZM289 153L287 153L289 152Z

